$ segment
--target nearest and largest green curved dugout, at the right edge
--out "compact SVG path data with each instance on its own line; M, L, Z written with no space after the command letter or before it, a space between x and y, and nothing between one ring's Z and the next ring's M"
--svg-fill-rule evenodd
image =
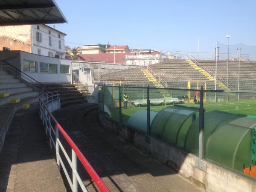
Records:
M204 158L226 168L255 165L255 116L221 111L204 113ZM198 156L199 118L189 128L185 149ZM253 140L254 139L254 140Z

